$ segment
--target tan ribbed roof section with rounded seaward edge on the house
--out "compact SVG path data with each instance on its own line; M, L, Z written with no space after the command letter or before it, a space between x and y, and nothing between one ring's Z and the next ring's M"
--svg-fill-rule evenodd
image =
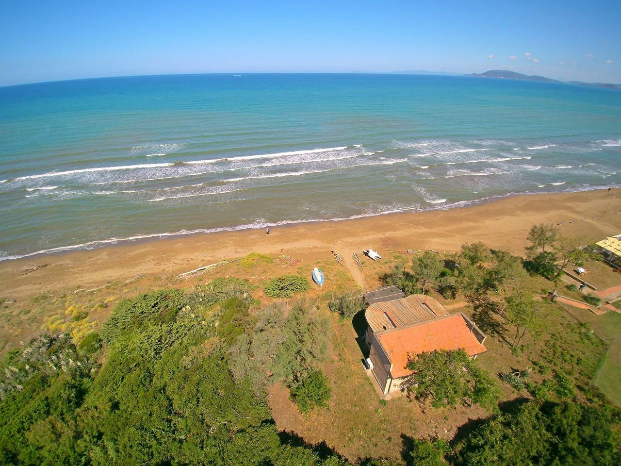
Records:
M396 329L448 316L448 311L427 295L411 295L373 303L366 308L365 318L373 332Z

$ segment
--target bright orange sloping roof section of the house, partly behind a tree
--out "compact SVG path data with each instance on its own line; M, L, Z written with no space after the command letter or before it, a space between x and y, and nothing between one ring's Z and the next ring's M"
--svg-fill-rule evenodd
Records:
M413 327L376 334L392 362L391 377L412 373L406 365L410 356L433 350L463 349L469 356L487 351L466 325L461 314L425 322Z

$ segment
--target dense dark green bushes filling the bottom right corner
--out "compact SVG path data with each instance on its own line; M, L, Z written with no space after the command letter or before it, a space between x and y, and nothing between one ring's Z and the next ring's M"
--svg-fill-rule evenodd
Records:
M612 424L619 410L579 403L523 401L480 423L456 444L456 466L621 464Z

